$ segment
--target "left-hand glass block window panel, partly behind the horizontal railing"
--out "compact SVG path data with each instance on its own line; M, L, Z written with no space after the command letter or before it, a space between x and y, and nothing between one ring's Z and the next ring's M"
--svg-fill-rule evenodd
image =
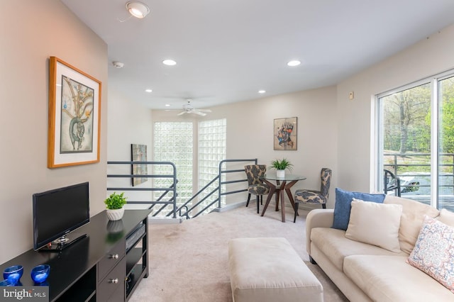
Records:
M153 156L155 162L173 162L177 167L177 206L181 205L192 197L192 155L193 155L193 124L192 122L157 122L153 130ZM172 167L169 165L154 167L155 174L172 174ZM156 178L154 187L170 187L172 179ZM171 192L162 201L169 201ZM162 191L153 193L157 201ZM160 207L158 207L160 208ZM161 211L163 215L171 211ZM167 209L166 209L167 210Z

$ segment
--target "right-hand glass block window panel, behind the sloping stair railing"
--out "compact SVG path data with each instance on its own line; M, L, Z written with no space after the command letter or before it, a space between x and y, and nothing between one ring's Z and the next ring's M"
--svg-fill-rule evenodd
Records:
M222 118L219 120L200 121L199 122L199 189L202 189L209 181L218 176L219 162L226 160L227 157L227 120ZM225 181L225 175L222 176L222 181ZM218 181L215 181L205 190L207 194L216 189ZM225 191L225 186L221 187L221 191ZM200 196L199 200L204 196ZM217 192L206 198L203 207L209 205L212 201L218 198ZM221 205L226 203L225 196L221 197ZM217 203L210 208L216 208Z

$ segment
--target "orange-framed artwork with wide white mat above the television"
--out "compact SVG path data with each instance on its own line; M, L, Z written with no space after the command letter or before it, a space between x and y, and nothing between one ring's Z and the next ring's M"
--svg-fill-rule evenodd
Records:
M99 162L101 82L49 60L48 167Z

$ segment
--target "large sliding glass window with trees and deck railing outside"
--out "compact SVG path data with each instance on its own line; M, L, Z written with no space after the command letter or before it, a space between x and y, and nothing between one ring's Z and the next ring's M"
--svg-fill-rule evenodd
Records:
M453 73L380 94L377 104L377 187L397 184L388 170L402 197L454 210Z

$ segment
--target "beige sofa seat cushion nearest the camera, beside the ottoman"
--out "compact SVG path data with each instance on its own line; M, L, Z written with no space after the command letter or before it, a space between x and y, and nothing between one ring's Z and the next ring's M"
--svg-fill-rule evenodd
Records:
M343 269L372 301L453 301L453 293L405 260L406 256L355 255L345 258Z

